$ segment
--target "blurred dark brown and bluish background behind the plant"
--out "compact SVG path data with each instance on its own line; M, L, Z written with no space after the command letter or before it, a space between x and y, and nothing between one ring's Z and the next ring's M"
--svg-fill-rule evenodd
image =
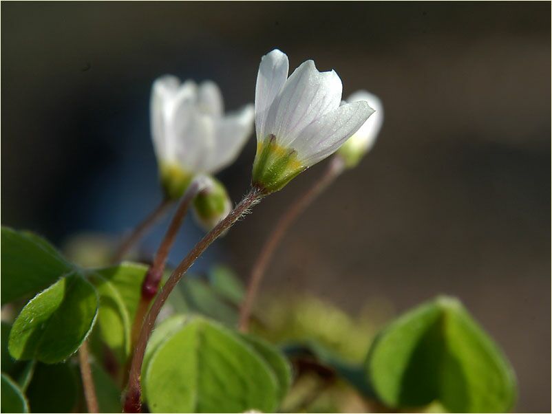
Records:
M549 411L550 16L548 2L4 2L1 222L58 246L120 237L161 197L154 78L213 79L237 109L254 100L263 54L278 47L290 69L312 58L344 96L379 95L385 122L288 233L265 294L383 319L458 296L515 367L516 410ZM254 155L252 137L219 175L234 201ZM246 280L272 221L323 168L263 201L195 268L229 263ZM187 219L171 262L201 235Z

